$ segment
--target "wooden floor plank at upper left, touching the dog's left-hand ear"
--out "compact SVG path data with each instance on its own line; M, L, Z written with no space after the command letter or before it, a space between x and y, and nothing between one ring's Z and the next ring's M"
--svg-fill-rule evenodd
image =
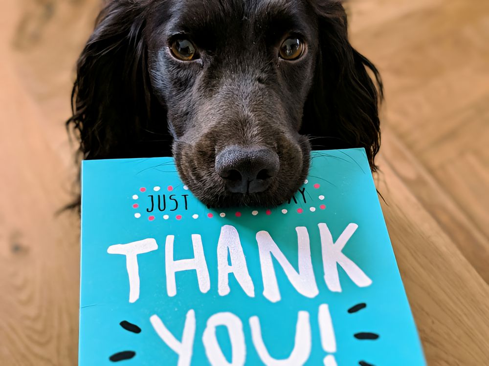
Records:
M101 7L100 0L23 0L14 10L9 56L15 75L45 116L49 144L67 167L73 159L63 125L70 116L75 63Z

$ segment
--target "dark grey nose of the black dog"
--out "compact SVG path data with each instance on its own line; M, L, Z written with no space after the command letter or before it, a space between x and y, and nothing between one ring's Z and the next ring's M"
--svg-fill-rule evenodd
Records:
M267 147L229 146L216 157L216 171L233 193L263 192L279 167L277 153Z

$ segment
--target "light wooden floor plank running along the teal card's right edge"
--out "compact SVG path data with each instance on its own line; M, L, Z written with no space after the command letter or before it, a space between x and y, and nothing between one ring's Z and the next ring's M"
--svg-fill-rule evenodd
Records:
M382 204L428 365L489 365L489 286L379 159Z

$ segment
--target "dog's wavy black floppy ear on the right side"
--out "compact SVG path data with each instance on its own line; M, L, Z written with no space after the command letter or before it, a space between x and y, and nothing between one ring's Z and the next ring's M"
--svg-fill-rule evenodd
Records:
M313 2L319 51L300 132L311 136L313 147L364 147L372 170L376 170L374 158L380 145L378 105L383 98L380 75L348 41L341 1Z

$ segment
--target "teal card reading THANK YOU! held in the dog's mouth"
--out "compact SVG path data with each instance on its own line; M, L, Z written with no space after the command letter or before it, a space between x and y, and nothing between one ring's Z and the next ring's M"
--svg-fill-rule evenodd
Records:
M172 158L84 161L80 297L80 366L425 365L363 149L270 208L207 208Z

